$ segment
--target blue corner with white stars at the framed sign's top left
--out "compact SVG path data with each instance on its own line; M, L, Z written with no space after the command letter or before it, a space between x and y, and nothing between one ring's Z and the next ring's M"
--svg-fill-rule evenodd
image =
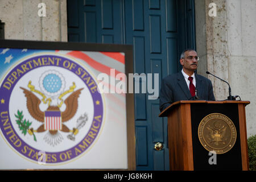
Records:
M13 48L0 48L0 80L2 76L11 68L17 61L23 57L40 53L40 52L55 52L55 50L44 49L13 49Z

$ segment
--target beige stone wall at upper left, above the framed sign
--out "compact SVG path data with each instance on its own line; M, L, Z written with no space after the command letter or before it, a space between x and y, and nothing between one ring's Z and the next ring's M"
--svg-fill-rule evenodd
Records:
M46 17L38 15L38 4L46 4ZM5 39L67 42L66 0L1 0L0 19Z

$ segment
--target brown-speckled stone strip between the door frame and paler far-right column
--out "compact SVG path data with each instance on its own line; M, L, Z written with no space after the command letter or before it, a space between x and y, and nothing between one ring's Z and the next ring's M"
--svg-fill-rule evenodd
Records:
M229 61L227 50L227 28L226 28L226 1L214 1L217 5L217 16L209 16L209 4L211 0L205 1L206 9L206 32L207 32L207 69L213 75L229 82ZM225 100L228 97L228 85L213 76L209 76L214 87L216 100Z

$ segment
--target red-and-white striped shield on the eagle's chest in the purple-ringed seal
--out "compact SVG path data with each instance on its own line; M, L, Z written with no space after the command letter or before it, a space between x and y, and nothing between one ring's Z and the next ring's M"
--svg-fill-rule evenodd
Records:
M60 111L44 112L44 130L61 130L61 113Z

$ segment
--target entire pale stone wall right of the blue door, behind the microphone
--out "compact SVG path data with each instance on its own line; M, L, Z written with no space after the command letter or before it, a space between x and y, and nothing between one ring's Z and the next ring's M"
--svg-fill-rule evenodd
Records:
M210 17L209 3L217 5L217 16ZM256 134L256 1L196 0L196 45L200 57L198 72L209 71L228 81L232 95L238 95L246 106L247 136ZM202 28L203 27L203 28ZM201 56L202 55L202 56ZM217 100L228 97L228 85L212 80Z

